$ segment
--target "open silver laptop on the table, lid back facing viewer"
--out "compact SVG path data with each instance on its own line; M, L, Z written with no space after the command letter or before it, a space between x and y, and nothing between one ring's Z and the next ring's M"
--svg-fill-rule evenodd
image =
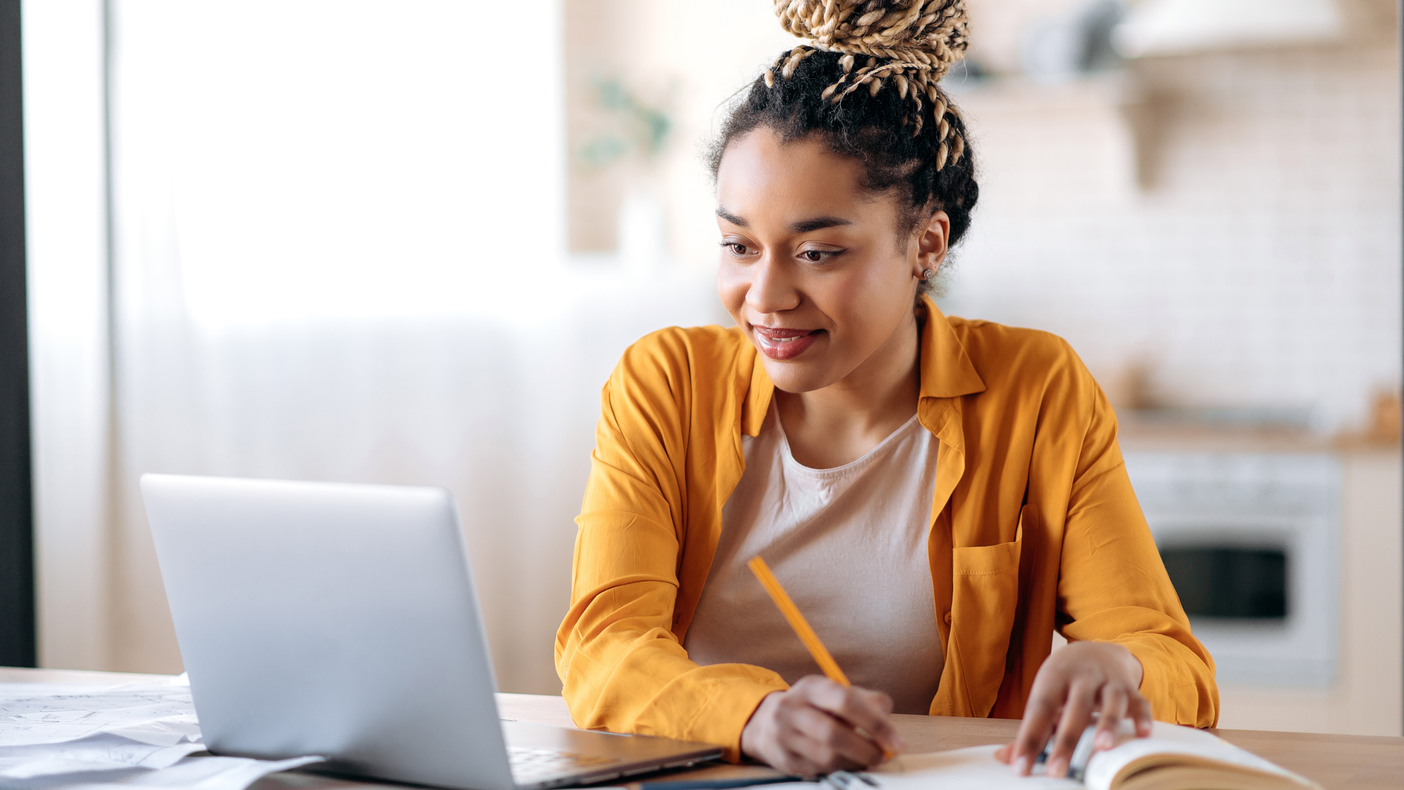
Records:
M722 751L503 721L458 513L434 488L142 477L209 751L472 790Z

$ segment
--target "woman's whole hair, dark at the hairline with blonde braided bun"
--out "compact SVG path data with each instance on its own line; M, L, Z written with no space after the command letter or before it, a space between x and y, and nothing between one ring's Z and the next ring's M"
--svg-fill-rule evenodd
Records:
M758 127L783 141L819 134L863 163L865 188L901 188L904 236L941 209L949 243L959 242L980 188L965 119L941 77L969 45L965 0L775 0L775 13L807 41L730 108L709 156L713 177L727 143Z

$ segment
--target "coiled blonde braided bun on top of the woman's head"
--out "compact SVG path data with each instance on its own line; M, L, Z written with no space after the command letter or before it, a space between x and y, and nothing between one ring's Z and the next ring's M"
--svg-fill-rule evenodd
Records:
M901 62L931 82L970 45L965 0L775 0L775 14L817 49Z

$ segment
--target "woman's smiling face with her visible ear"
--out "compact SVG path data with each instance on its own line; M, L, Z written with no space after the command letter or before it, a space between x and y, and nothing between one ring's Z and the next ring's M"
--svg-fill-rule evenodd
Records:
M765 128L722 156L717 291L782 391L915 364L913 305L922 271L945 257L949 219L938 211L899 238L899 198L862 179L823 141L785 143Z

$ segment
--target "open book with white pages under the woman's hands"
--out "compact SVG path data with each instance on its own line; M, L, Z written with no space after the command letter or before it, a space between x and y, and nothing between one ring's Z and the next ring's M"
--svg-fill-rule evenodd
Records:
M1311 782L1209 732L1155 723L1150 738L1120 742L1088 760L1082 780L1014 776L998 746L901 755L854 790L1321 790Z

